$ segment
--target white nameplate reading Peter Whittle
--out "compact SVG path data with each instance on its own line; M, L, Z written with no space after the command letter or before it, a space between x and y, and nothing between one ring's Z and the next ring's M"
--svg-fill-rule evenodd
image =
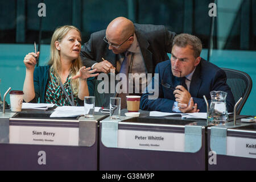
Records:
M184 152L185 134L118 130L118 148Z

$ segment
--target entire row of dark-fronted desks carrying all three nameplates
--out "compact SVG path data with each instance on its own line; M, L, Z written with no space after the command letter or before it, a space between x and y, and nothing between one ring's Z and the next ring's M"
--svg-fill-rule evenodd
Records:
M100 112L94 119L0 113L0 170L256 169L255 125L239 122L246 116L237 117L236 126L213 126L206 119L150 117L142 110L130 118L126 112L120 120ZM238 152L246 142L250 151Z

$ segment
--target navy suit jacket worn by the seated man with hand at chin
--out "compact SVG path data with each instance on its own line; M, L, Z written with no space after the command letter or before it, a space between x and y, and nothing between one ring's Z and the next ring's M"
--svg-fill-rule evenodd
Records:
M150 93L148 93L147 90L141 98L141 109L172 112L172 106L175 102L174 90L162 85L169 84L172 88L175 88L172 81L174 76L171 71L171 61L163 61L156 65L155 73L159 73L159 97L156 100L148 100ZM154 86L154 78L152 79L152 85ZM189 93L191 97L193 97L194 104L197 103L197 109L200 109L200 112L207 111L203 96L205 95L205 97L207 97L210 105L210 91L212 90L221 90L228 93L226 97L226 107L228 112L232 112L234 110L235 101L229 86L226 84L225 72L216 65L201 58L199 65L197 65L193 73L189 88Z

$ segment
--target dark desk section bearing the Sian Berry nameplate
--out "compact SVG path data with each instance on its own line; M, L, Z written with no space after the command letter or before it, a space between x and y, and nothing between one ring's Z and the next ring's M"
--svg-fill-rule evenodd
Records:
M97 170L97 124L108 115L49 118L51 113L9 113L8 123L0 113L0 133L6 133L0 139L0 170Z

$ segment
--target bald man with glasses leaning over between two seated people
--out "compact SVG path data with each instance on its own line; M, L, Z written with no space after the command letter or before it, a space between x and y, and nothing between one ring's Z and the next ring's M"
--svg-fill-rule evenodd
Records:
M169 59L167 53L171 52L175 35L164 26L136 24L125 17L118 17L109 23L106 30L90 36L80 56L86 67L104 73L115 69L119 73L129 52L128 73L154 73L156 64ZM142 87L140 85L140 93Z

